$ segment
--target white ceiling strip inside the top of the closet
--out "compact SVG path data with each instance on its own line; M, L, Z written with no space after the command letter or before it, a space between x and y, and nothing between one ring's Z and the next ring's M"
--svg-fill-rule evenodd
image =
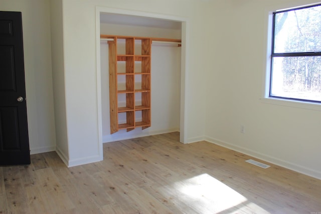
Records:
M180 30L181 22L120 14L100 14L100 23Z

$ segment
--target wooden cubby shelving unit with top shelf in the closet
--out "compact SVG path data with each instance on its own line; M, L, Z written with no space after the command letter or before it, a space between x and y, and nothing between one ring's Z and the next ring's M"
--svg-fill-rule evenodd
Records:
M151 43L181 40L110 35L100 38L108 41L110 133L150 127Z

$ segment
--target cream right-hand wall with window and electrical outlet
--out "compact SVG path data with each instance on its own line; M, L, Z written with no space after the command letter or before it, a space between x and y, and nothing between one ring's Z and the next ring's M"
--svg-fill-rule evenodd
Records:
M263 98L268 12L316 1L226 1L213 13L218 59L207 73L207 139L321 178L321 109ZM317 108L316 108L317 109ZM240 125L245 134L240 133Z

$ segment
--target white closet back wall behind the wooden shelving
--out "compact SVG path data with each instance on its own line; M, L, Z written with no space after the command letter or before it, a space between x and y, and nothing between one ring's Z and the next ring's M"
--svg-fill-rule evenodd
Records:
M181 39L181 29L151 28L100 24L107 35L161 37ZM180 130L181 48L176 45L152 44L151 50L151 127L110 134L108 45L100 44L103 142L129 139Z

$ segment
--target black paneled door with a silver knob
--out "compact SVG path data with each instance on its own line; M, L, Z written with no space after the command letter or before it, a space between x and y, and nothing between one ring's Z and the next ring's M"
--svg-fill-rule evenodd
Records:
M0 12L0 165L30 164L22 16Z

